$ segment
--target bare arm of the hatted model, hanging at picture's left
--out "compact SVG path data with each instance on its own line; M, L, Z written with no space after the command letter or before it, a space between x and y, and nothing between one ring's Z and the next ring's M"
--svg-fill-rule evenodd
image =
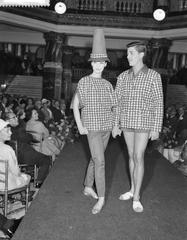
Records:
M83 126L81 121L80 110L79 110L79 97L77 93L75 94L73 99L73 114L74 114L75 121L77 123L79 133L81 135L88 134L88 130Z

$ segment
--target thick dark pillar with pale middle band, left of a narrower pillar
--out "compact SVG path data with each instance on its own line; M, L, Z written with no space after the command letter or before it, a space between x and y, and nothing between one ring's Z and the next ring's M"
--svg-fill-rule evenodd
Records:
M62 55L66 35L48 32L44 33L46 40L45 64L43 74L43 97L48 99L61 98L62 85Z

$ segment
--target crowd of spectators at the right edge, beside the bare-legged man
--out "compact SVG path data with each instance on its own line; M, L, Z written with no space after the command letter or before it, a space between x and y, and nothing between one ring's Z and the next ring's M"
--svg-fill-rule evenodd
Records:
M158 150L187 176L187 108L170 105L165 109Z

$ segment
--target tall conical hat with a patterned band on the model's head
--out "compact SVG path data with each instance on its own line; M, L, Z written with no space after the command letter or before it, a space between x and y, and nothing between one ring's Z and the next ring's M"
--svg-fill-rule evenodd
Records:
M94 31L92 53L88 61L110 62L106 52L104 31L101 28Z

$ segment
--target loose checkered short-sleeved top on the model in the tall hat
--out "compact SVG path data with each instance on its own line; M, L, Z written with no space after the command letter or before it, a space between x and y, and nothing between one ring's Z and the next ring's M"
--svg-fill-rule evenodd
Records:
M114 89L103 78L83 77L77 86L83 125L92 131L112 129L112 108L117 105Z

